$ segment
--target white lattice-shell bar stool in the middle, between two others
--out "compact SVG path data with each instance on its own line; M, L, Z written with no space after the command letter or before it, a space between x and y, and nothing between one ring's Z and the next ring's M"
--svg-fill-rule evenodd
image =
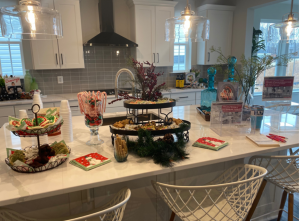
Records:
M152 181L154 189L183 221L244 220L267 170L236 165L204 186L175 186Z

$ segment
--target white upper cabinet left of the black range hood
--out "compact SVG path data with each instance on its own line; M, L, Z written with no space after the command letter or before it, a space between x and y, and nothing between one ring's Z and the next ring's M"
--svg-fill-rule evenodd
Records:
M23 41L26 69L84 68L79 0L42 0L61 13L63 38Z

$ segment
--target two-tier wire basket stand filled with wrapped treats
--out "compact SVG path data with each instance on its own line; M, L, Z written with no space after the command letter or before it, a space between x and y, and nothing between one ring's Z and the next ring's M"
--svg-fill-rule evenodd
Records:
M37 137L37 145L24 149L7 148L5 163L20 173L43 172L58 167L69 158L71 152L63 140L52 144L40 144L40 136L58 131L63 124L57 109L46 110L43 116L38 116L40 106L35 104L31 111L35 115L34 119L9 117L9 125L6 127L19 137Z

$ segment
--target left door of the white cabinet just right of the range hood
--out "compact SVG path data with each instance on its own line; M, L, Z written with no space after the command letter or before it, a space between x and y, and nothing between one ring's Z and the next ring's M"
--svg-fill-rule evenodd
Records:
M155 6L135 7L136 57L140 62L155 63Z

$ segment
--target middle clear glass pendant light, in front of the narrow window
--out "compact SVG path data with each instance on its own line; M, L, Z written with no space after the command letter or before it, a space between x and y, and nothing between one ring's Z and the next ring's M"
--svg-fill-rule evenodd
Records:
M209 20L203 16L196 16L191 10L189 0L187 0L184 11L180 17L168 18L165 23L165 40L183 42L191 39L199 40L209 39Z

